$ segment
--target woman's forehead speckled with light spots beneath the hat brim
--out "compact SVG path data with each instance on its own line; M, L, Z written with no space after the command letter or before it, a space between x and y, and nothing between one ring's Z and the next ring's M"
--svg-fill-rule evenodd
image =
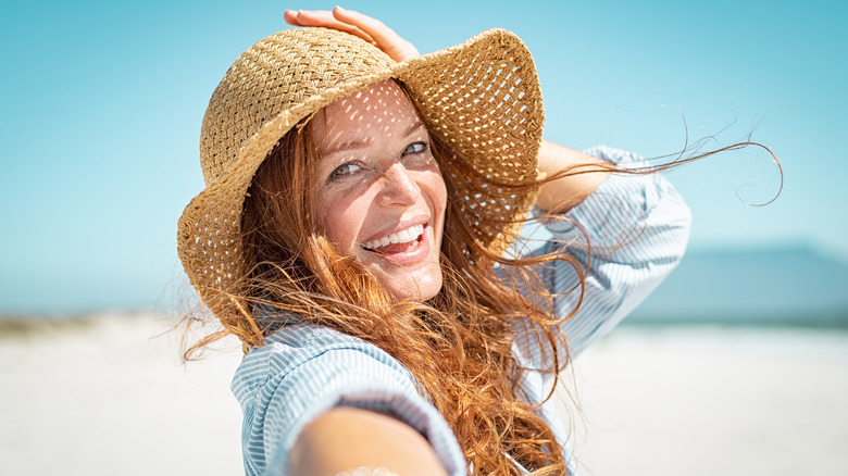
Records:
M373 140L397 135L420 123L415 107L391 79L333 102L315 116L319 148L327 151L350 140Z

